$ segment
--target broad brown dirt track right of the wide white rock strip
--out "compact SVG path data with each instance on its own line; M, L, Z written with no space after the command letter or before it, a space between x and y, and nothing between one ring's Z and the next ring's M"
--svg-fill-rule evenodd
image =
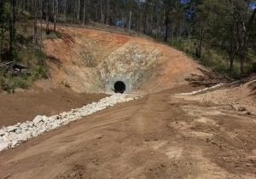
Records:
M172 90L0 153L0 178L255 178L256 119Z

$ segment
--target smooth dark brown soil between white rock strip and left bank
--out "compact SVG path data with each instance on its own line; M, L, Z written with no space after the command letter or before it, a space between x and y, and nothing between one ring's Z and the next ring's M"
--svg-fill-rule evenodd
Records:
M74 93L68 89L36 88L12 95L0 95L0 127L32 120L37 115L55 115L98 101L106 95Z

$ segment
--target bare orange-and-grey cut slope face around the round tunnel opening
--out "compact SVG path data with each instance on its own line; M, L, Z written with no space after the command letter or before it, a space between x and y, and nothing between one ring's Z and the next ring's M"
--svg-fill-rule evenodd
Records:
M51 80L76 92L111 92L115 79L132 92L154 92L200 73L182 52L152 40L75 27L58 31L62 38L44 41Z

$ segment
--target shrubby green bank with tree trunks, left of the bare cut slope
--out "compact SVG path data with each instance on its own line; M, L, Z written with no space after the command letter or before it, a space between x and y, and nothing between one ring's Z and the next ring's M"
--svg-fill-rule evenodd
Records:
M9 92L26 89L35 80L47 78L48 72L44 52L40 46L37 49L33 46L32 16L19 11L12 27L11 13L10 3L4 3L0 14L0 90Z

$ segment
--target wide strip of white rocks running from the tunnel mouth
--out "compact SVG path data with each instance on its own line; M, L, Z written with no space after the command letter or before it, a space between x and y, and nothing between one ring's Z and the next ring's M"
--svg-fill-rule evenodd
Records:
M117 103L134 99L135 98L128 97L127 95L114 94L103 98L98 102L93 102L81 108L72 109L69 112L60 113L51 117L37 116L32 121L3 127L0 129L0 151L16 147L21 142L39 136L49 130L55 130L72 121L96 113L107 107L113 107L113 105Z

